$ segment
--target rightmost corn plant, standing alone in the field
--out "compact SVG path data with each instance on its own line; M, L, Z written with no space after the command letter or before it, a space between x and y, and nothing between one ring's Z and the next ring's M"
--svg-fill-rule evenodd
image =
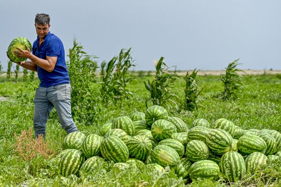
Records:
M238 61L239 59L229 63L225 75L221 75L224 91L220 96L223 100L228 100L230 98L237 99L238 94L243 92L243 76L238 74L238 72L244 71L237 68L237 66L240 65Z

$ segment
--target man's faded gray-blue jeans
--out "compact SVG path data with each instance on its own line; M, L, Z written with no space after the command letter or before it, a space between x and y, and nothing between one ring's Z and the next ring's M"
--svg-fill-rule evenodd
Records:
M66 133L77 131L71 115L71 85L60 84L48 88L39 87L34 98L33 125L35 136L45 137L46 123L53 108L56 108L59 122Z

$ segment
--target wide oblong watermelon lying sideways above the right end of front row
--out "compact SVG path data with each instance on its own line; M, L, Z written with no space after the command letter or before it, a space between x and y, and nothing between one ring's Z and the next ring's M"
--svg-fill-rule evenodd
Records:
M243 135L237 142L239 152L249 155L253 152L266 152L266 142L256 135Z

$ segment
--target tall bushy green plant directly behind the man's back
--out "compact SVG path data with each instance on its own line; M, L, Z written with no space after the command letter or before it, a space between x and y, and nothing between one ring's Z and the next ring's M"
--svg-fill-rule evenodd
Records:
M77 121L90 124L95 121L95 115L98 113L99 98L93 97L96 82L97 62L96 57L87 55L83 51L83 46L76 39L73 42L73 48L69 49L69 61L67 68L72 86L72 114Z

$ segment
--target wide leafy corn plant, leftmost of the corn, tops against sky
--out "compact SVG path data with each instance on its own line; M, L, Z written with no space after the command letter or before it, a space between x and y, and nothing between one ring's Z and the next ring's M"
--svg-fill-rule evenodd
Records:
M118 57L113 57L107 64L101 64L101 95L104 103L120 101L129 98L132 93L127 89L127 85L132 81L128 70L134 66L129 49L121 49ZM106 69L104 69L106 66Z

